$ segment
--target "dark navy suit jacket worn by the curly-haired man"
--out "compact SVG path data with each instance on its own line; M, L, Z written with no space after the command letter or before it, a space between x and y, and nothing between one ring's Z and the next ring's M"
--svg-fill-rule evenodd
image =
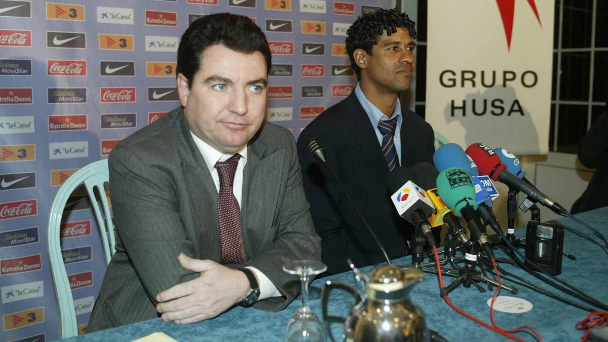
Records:
M401 111L401 165L432 162L434 134L429 124L405 108ZM322 239L327 273L347 270L347 258L361 267L385 260L361 218L342 195L326 167L306 148L318 138L326 159L344 184L390 258L408 252L413 226L399 217L387 189L389 168L376 133L354 91L313 120L298 138L302 180L314 226Z

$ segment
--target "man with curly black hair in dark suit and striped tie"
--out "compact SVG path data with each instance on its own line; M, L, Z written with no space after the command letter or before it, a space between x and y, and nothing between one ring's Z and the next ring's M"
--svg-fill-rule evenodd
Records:
M401 107L399 92L412 80L416 38L406 13L380 9L348 29L346 48L359 84L347 99L328 108L300 134L298 156L306 197L327 273L347 270L347 259L364 266L383 254L326 167L306 144L317 138L337 173L390 258L409 251L413 226L394 208L387 178L398 166L432 162L434 134L429 124Z

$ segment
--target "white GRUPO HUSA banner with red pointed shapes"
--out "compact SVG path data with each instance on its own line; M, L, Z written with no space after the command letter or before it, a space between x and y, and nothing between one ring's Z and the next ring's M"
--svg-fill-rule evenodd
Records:
M426 120L438 138L547 154L553 16L553 1L429 1Z

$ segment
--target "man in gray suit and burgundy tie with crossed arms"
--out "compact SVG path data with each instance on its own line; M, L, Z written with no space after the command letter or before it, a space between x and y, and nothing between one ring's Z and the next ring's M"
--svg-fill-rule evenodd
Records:
M181 107L109 156L118 238L88 331L233 305L283 309L290 260L320 259L291 133L264 122L271 53L246 16L198 19L178 49ZM244 268L246 267L246 268Z

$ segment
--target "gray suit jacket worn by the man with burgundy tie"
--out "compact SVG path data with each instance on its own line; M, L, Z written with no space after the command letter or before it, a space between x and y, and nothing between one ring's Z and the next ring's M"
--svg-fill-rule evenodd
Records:
M116 254L88 331L156 318L159 292L198 277L179 265L179 253L216 262L221 256L218 191L181 108L116 145L109 172ZM241 208L247 265L268 276L285 296L255 306L282 309L300 288L297 276L282 265L320 259L295 141L285 128L264 123L249 142Z

